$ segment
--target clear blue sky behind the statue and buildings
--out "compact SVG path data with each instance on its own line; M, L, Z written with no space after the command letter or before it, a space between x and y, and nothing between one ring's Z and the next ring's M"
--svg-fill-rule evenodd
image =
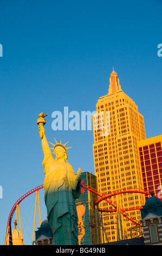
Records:
M93 131L53 131L51 113L64 106L95 111L114 66L122 90L144 115L147 138L161 135L161 9L160 0L0 1L1 245L12 205L44 181L40 112L48 113L48 141L62 137L73 146L68 155L75 172L94 173ZM34 200L21 203L24 215ZM32 240L29 223L25 244Z

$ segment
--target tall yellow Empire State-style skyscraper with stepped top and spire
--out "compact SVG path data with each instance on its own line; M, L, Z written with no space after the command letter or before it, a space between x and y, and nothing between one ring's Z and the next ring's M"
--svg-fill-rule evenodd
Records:
M114 70L109 82L108 94L100 97L96 103L97 114L93 116L95 175L98 177L99 191L105 194L123 188L143 188L138 141L146 138L144 118L135 102L122 92L118 74ZM103 126L106 132L103 132ZM142 194L123 193L111 199L117 205L120 202L120 208L133 208L145 203ZM102 201L99 208L112 209L112 206ZM139 210L130 211L129 215L140 220ZM117 222L116 214L103 218L109 242L118 240ZM124 217L121 223L120 231L125 238L131 238L129 229L134 223Z

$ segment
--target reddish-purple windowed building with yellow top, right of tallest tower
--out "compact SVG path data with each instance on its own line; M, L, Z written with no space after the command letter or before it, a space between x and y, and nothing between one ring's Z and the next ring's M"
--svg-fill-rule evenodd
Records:
M162 135L138 142L144 190L160 193L162 185Z

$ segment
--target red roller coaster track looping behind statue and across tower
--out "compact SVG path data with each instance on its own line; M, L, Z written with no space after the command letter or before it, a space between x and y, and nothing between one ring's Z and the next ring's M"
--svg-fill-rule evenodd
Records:
M98 206L98 204L102 201L102 200L106 200L106 202L108 202L110 205L112 205L114 207L114 209L99 209L99 211L101 212L116 212L117 211L117 205L112 201L111 197L116 196L117 194L122 194L122 193L142 193L142 194L146 194L146 195L150 195L150 192L141 190L141 189L135 189L135 188L129 188L129 189L122 189L122 190L118 190L118 191L114 191L108 194L103 194L100 191L95 190L95 188L90 187L86 184L83 184L83 181L81 182L81 186L83 188L86 188L87 190L95 193L96 195L99 196L99 198L97 198L94 202L94 207ZM14 212L16 210L16 206L18 204L20 204L22 202L23 199L25 199L26 197L28 197L30 194L36 192L37 190L40 190L41 188L43 188L43 185L40 185L38 187L33 188L33 190L28 191L27 193L25 193L21 198L19 198L16 203L14 204L14 206L12 207L10 214L9 214L9 218L8 218L8 223L7 223L7 232L6 232L6 238L8 236L8 230L10 227L10 223L12 221L12 217L14 215ZM120 209L120 212L122 215L124 215L126 218L128 218L128 220L132 221L135 225L141 225L141 222L134 220L134 218L132 218L131 216L129 216L126 211L133 211L133 210L139 210L142 209L142 206L139 207L134 207L134 208L123 208Z

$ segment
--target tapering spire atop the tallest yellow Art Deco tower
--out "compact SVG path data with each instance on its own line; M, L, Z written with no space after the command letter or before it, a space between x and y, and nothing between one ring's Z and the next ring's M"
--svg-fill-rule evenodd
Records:
M113 67L113 71L110 76L111 77L109 78L110 84L109 84L108 93L112 94L112 93L117 93L117 92L121 91L118 74L114 71L114 67Z

